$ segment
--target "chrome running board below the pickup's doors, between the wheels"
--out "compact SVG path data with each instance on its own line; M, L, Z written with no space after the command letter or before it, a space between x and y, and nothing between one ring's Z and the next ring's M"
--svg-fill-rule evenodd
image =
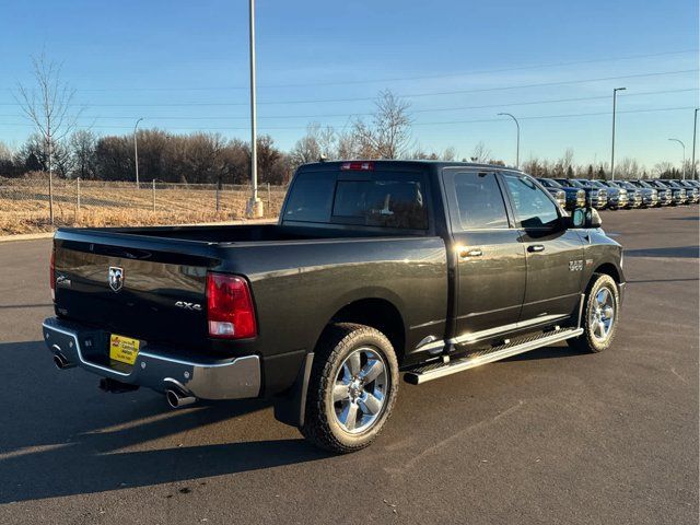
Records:
M555 331L539 334L526 339L520 339L487 350L472 352L464 358L447 362L430 363L419 369L413 369L404 375L404 381L411 385L420 385L429 381L438 380L446 375L464 372L482 364L492 363L502 359L542 348L555 342L565 341L583 334L583 328L562 328Z

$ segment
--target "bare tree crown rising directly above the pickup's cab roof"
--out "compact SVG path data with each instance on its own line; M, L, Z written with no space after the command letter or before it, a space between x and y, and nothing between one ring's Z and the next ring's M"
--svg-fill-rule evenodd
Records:
M353 135L363 158L399 159L405 155L410 141L411 118L409 103L392 91L380 92L372 124L354 122Z

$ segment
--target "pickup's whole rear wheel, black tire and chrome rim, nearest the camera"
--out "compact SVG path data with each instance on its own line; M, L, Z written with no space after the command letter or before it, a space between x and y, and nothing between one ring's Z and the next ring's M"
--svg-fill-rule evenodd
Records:
M398 393L398 362L375 328L330 325L316 349L302 434L336 453L370 445L386 423Z

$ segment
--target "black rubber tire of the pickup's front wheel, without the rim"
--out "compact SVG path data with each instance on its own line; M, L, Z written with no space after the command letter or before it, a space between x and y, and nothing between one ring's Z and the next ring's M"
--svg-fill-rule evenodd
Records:
M612 319L609 323L608 331L606 336L602 338L602 329L599 327L596 327L596 324L600 322L596 320L600 319L600 317L596 314L596 310L600 310L596 298L599 296L598 294L600 294L603 290L607 290L607 292L609 293L614 312ZM612 345L612 340L615 339L615 335L617 332L619 312L620 293L617 288L617 283L610 276L606 273L595 273L593 276L593 279L591 279L591 283L588 284L585 304L583 305L583 319L581 323L583 334L575 339L568 339L567 342L570 347L575 348L580 351L602 352L604 350L607 350ZM605 322L603 323L605 326Z

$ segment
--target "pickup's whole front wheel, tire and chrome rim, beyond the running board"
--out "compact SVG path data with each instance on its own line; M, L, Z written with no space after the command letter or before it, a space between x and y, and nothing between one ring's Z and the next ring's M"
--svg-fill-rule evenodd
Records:
M594 276L583 310L583 334L568 339L569 346L588 352L607 350L615 339L620 294L615 280L605 273Z

